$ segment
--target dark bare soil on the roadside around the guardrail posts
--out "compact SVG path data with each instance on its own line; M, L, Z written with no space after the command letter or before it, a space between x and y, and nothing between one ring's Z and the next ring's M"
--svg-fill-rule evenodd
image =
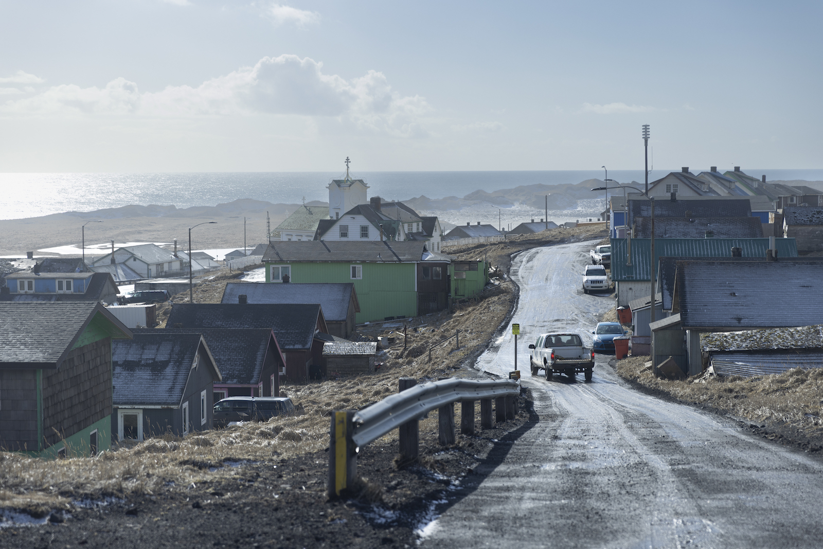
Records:
M328 498L327 449L241 464L230 478L198 486L75 506L42 525L0 529L0 547L414 547L418 528L483 481L477 465L500 463L533 425L531 395L518 402L514 420L490 430L478 420L477 435L458 435L451 446L421 429L420 461L405 468L396 465L396 439L368 445L358 458L360 486L345 498Z

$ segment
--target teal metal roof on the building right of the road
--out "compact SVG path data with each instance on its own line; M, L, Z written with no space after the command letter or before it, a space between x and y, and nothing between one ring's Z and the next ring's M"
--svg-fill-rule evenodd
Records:
M796 258L797 243L793 238L774 239L778 258ZM768 238L752 239L654 239L654 264L661 257L731 258L732 248L742 249L744 258L765 259ZM631 265L626 265L626 239L611 239L611 280L651 280L649 276L650 239L631 239Z

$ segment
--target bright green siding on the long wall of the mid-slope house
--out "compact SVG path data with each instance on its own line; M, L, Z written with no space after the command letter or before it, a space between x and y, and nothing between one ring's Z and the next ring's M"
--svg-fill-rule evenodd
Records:
M417 315L416 263L270 262L266 264L267 282L271 282L269 265L291 265L292 282L353 282L360 303L360 313L356 314L359 324L387 316ZM351 265L363 268L361 280L351 280Z

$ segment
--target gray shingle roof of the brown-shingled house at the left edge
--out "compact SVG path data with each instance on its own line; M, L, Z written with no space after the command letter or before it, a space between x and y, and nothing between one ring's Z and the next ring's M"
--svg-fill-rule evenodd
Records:
M110 337L132 337L98 301L0 302L0 367L59 368L95 318Z

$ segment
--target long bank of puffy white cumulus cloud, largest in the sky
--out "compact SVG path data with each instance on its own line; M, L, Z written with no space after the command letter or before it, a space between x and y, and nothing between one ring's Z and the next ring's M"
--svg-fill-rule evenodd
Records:
M402 96L382 72L346 80L323 72L323 63L296 55L264 57L200 86L167 86L141 93L116 78L104 88L52 86L37 95L9 100L7 114L129 115L142 118L249 116L253 114L337 117L359 128L399 137L424 137L425 98Z

